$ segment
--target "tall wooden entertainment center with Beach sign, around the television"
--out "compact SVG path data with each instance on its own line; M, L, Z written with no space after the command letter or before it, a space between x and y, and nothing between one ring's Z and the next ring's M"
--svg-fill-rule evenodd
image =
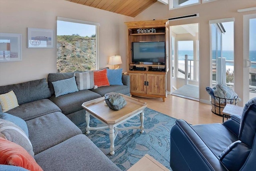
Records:
M128 73L131 95L160 97L166 100L166 76L169 59L164 62L132 62L133 42L166 42L165 24L168 20L125 22L128 27Z

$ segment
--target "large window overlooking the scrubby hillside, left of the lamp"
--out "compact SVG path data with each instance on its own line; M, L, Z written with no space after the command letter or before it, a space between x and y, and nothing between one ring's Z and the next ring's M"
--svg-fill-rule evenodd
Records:
M98 23L58 17L57 72L98 69Z

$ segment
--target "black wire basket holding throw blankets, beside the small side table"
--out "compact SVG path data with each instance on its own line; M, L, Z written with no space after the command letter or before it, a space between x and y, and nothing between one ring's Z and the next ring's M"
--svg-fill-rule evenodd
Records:
M220 98L216 97L212 98L211 103L212 103L212 113L223 116L223 109L227 104L232 104L232 105L238 105L238 96L236 95L234 99L225 99L225 98Z

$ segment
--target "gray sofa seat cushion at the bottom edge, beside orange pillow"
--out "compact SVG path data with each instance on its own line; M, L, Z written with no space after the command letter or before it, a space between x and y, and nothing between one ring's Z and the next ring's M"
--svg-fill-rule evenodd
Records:
M45 171L120 171L85 135L76 135L42 153L36 162Z

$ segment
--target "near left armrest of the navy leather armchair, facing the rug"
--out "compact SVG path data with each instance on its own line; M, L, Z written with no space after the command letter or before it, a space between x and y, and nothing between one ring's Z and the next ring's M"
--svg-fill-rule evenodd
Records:
M218 157L186 123L176 120L171 129L170 165L176 170L226 171Z

